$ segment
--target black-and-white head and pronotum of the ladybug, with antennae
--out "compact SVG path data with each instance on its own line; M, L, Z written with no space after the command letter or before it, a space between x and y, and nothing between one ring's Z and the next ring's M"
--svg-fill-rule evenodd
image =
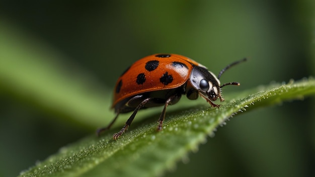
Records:
M239 82L228 82L220 85L220 76L226 69L242 61L246 61L246 58L226 66L220 71L218 77L216 77L211 71L208 71L208 69L203 66L194 66L190 74L190 83L195 91L198 91L200 96L205 98L211 105L217 106L211 101L216 101L217 99L220 99L221 102L224 101L224 99L221 97L221 88L223 86L240 85ZM191 94L188 92L187 97L189 99L196 99L198 95L196 92L195 94L192 93L194 92L191 92Z

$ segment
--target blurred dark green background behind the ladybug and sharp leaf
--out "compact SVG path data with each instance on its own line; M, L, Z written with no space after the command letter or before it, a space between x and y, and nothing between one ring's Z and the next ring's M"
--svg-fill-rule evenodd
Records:
M182 54L214 73L248 57L221 77L241 82L226 95L314 75L314 10L306 0L0 2L0 176L106 125L116 79L146 55ZM314 176L314 103L234 117L166 176Z

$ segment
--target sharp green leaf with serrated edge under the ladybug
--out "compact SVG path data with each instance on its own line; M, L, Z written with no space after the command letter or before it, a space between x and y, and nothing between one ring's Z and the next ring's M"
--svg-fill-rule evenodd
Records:
M229 96L220 108L202 104L167 113L164 130L156 132L156 121L132 124L117 141L115 131L102 137L88 136L62 147L58 153L21 172L20 176L156 176L185 160L189 151L212 136L232 116L246 110L303 99L315 95L313 78L273 83ZM158 117L153 115L150 117Z

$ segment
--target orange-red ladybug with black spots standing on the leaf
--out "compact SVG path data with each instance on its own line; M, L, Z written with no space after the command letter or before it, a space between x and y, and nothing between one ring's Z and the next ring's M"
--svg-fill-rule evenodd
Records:
M157 131L163 128L166 108L176 104L182 95L190 100L198 96L204 98L212 107L219 107L213 101L220 99L221 88L226 85L240 85L239 82L228 82L220 85L219 78L229 67L246 61L246 58L233 62L223 68L216 77L211 71L198 62L178 54L154 54L146 56L127 68L118 78L114 90L112 108L116 117L97 134L108 130L120 113L133 111L124 127L113 135L117 140L128 129L140 109L163 106Z

